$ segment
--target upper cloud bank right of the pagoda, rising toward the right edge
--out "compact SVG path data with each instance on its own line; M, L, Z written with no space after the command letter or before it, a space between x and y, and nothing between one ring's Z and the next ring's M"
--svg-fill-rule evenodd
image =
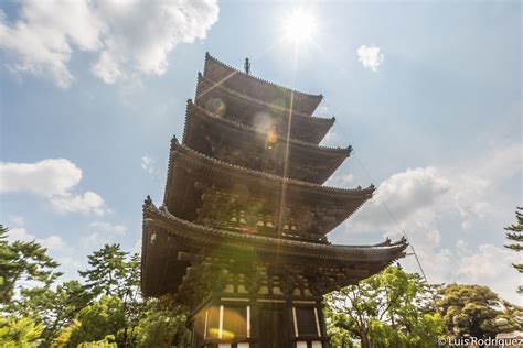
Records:
M492 203L495 189L503 180L521 173L521 142L500 144L480 159L450 170L431 166L394 174L348 225L353 232L385 230L399 235L386 205L407 231L429 231L437 220L446 218L458 218L462 229L470 229L500 210Z

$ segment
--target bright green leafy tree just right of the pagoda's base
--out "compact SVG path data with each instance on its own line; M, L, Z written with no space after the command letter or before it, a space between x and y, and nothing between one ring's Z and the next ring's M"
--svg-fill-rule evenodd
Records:
M359 338L363 348L434 347L442 327L430 301L419 274L388 267L359 285L327 295L327 323L335 327L331 331Z

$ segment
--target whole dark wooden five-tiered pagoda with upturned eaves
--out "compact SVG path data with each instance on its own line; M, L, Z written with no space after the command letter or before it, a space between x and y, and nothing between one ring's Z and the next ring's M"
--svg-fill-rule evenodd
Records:
M407 243L328 241L374 186L323 186L352 149L319 145L334 121L312 116L322 96L247 73L205 56L163 204L143 204L142 292L191 311L192 347L329 347L322 295Z

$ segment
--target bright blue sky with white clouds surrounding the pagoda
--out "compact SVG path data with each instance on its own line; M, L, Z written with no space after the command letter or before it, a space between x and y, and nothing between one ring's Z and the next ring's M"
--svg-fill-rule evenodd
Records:
M297 8L316 21L299 46L284 37ZM105 242L139 249L141 204L161 202L169 141L209 51L325 96L317 115L337 123L323 143L357 155L328 184L378 187L332 241L405 232L430 282L488 284L521 303L503 248L522 204L520 2L0 9L1 218L12 238L47 246L64 278Z

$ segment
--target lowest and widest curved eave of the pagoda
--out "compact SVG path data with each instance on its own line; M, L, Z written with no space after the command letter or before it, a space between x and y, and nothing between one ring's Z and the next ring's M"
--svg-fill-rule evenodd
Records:
M160 231L162 236L158 236ZM156 242L151 242L152 236ZM143 205L141 287L145 295L158 296L175 291L189 265L177 258L179 251L193 249L202 253L205 253L205 250L216 252L220 250L217 248L227 246L238 252L257 252L266 260L278 255L311 265L365 264L369 269L381 269L404 257L407 242L402 239L396 243L385 241L375 246L353 247L244 235L182 220L164 208L154 207L149 200Z

